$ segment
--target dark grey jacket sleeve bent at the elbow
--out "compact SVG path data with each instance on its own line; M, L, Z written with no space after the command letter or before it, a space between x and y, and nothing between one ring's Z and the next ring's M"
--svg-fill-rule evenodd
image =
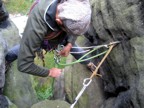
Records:
M47 33L47 25L41 16L30 15L24 30L18 55L18 69L32 75L46 77L48 69L34 64L35 52Z

